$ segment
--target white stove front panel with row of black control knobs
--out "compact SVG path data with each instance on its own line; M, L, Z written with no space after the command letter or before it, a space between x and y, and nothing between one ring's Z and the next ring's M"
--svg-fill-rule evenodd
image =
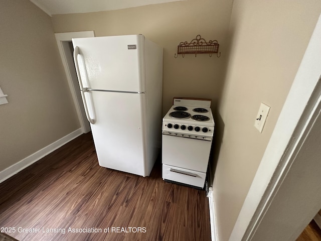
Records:
M214 127L163 122L163 131L178 134L213 137Z

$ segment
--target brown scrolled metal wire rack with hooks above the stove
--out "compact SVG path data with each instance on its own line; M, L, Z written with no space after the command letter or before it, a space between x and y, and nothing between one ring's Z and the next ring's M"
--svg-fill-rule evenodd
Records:
M174 55L175 58L178 57L179 54L182 54L184 58L185 54L217 54L219 58L221 56L221 52L219 53L219 44L216 40L210 40L206 42L205 39L201 38L201 35L196 36L190 43L187 41L181 42L180 45L177 46L177 54Z

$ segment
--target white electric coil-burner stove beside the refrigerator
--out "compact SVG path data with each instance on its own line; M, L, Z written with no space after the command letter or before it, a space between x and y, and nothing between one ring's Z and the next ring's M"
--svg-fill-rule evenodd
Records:
M210 99L174 98L163 118L163 179L204 188L214 135Z

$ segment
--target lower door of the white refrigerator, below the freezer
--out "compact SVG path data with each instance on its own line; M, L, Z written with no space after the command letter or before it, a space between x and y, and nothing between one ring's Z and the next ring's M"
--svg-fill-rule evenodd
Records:
M92 135L102 167L140 176L146 173L145 93L89 91L96 122Z

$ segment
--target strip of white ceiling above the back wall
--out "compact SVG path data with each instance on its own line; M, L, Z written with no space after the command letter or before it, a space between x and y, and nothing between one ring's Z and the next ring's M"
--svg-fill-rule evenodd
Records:
M30 0L48 15L127 9L186 0Z

